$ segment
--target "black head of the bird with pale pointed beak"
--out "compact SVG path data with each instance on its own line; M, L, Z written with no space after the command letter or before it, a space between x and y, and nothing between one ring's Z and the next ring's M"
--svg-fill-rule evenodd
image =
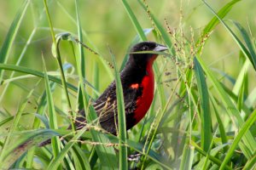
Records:
M148 62L153 63L157 57L158 54L154 54L154 52L165 51L166 49L168 49L166 46L156 42L139 42L131 48L130 60L137 65L147 65Z

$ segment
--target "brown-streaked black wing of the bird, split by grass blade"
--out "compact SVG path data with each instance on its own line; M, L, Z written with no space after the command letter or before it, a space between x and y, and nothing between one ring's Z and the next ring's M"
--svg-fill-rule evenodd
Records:
M127 129L132 127L129 127L129 125L135 124L135 120L133 119L133 112L136 109L137 97L141 91L142 88L130 88L129 86L123 86ZM116 134L116 127L118 126L118 111L115 82L112 82L104 91L104 93L98 99L96 99L95 103L93 103L93 106L102 128L110 133ZM80 113L82 116L84 116L84 110ZM77 118L77 129L84 127L84 123L84 117Z

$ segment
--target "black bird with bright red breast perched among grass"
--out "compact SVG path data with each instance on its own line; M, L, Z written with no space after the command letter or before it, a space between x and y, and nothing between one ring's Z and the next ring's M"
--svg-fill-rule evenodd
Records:
M161 52L166 49L166 46L156 42L139 42L131 48L129 59L123 71L120 72L127 130L143 119L152 103L154 98L152 65L158 56L154 52ZM118 121L116 100L116 84L113 81L92 104L101 127L114 135L117 134L116 126L118 125L118 122L115 122L115 120ZM81 116L75 122L77 129L81 129L86 123L84 110L79 113Z

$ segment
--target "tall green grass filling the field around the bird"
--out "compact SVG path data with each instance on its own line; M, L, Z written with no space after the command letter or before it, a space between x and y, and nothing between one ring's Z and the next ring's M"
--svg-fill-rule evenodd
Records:
M250 3L233 0L218 6L218 2L195 2L195 8L186 6L191 2L180 3L178 26L172 29L173 16L160 18L159 3L120 1L122 13L109 13L107 22L116 28L112 20L124 14L133 32L126 30L127 26L118 26L123 33L103 34L102 39L111 38L110 45L108 40L103 42L109 48L102 49L97 37L84 27L106 18L84 14L83 6L97 4L101 8L102 3L74 0L69 2L74 8L71 9L61 1L23 1L1 40L1 168L256 168L255 32L250 27L251 20L246 25L232 19L236 18L239 4ZM193 8L194 12L183 12L183 8ZM59 11L67 17L65 20L57 17ZM201 16L209 15L200 29L187 26L203 18L193 19L197 11L201 11ZM97 13L97 8L93 12ZM32 28L25 25L30 19ZM82 24L84 20L88 25ZM62 27L60 21L64 25L72 23L72 27ZM119 36L119 41L115 36ZM24 37L27 40L19 43ZM125 37L130 39L124 40ZM156 88L147 116L125 133L119 65L124 66L128 55L118 58L119 52L113 50L111 41L124 40L116 46L119 49L124 45L124 52L128 45L147 39L166 44L169 51L154 63ZM42 47L45 41L50 42L51 50L48 44L46 51L38 53L37 40ZM30 57L35 55L33 50L37 51L36 59L30 63ZM230 53L232 59L223 57L221 51ZM113 79L118 87L118 126L123 129L118 136L97 126L91 106ZM88 124L79 131L67 130L79 108L84 108ZM51 144L38 147L46 139L51 139Z

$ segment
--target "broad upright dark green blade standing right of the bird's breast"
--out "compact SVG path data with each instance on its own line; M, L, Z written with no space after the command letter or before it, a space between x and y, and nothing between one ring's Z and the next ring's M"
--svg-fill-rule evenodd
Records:
M196 58L194 58L194 65L198 93L201 100L201 145L203 150L208 151L212 142L212 117L209 94L204 72Z

